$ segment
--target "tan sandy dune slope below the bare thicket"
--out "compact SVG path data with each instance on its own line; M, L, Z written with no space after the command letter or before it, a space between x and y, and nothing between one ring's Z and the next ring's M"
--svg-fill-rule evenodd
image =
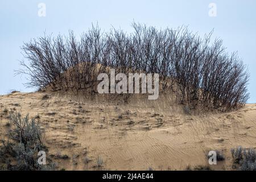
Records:
M47 100L42 97L48 94ZM60 168L75 170L185 169L208 164L209 150L222 150L224 162L213 169L232 169L230 148L256 147L256 105L230 113L189 115L171 98L135 98L129 104L102 99L77 100L54 93L0 96L0 134L14 109L39 115L46 128L49 154ZM68 159L57 156L67 154ZM98 158L102 168L95 167ZM85 162L88 161L88 163Z

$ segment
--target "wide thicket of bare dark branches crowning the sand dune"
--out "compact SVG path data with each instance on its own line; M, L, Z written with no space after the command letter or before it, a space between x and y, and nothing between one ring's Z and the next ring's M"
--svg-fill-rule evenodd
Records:
M30 86L74 93L97 92L97 75L108 72L159 73L162 90L176 90L180 102L222 110L236 109L249 98L249 75L236 53L229 55L222 40L210 44L186 27L157 30L133 23L134 32L101 33L100 28L81 35L44 35L22 47L28 63L20 73ZM89 90L88 90L89 89ZM86 90L86 91L85 91Z

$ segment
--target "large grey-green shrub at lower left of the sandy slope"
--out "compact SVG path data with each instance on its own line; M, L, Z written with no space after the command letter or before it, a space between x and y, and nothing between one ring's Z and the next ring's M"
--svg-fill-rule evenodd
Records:
M1 154L13 159L14 164L7 164L9 170L49 170L55 165L39 165L38 152L47 151L43 144L44 131L40 123L29 120L28 115L22 117L20 113L9 116L11 128L7 133L7 140L2 139Z

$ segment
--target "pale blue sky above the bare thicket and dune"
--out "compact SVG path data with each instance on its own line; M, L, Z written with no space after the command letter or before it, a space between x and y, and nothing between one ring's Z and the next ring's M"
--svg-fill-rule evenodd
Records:
M46 4L46 17L38 16L38 4ZM217 16L210 17L209 3L216 3ZM250 100L256 102L256 1L64 1L64 0L0 0L0 94L10 90L31 91L26 79L14 77L22 60L20 46L31 38L47 34L80 35L97 23L102 30L111 26L130 32L131 23L146 23L158 28L181 25L204 35L214 28L213 38L224 40L229 52L238 55L250 72ZM33 89L32 89L33 90Z

